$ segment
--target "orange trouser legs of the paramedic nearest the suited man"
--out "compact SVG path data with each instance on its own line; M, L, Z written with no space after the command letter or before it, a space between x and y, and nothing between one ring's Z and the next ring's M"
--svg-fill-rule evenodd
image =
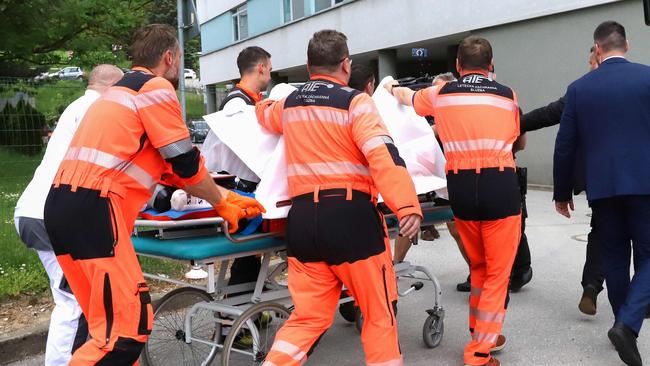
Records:
M467 365L484 365L501 334L505 320L510 271L521 235L521 215L493 221L456 218L470 262L469 329L465 346Z

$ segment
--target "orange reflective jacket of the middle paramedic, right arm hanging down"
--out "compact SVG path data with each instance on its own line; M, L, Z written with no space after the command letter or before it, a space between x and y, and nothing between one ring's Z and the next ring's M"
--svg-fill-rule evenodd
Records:
M314 75L287 98L257 104L262 126L284 134L289 194L349 188L377 197L399 218L422 216L415 187L367 94Z

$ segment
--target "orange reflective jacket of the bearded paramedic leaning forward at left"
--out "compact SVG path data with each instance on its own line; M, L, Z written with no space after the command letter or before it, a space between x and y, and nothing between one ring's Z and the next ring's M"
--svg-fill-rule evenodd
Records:
M125 212L132 225L163 175L195 184L206 174L172 84L134 68L88 109L54 184L114 193L137 208Z

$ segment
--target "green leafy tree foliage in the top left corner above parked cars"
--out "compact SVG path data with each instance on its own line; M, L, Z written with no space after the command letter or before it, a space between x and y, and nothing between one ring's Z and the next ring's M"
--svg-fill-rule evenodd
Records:
M56 64L54 51L128 45L155 0L0 0L0 65Z

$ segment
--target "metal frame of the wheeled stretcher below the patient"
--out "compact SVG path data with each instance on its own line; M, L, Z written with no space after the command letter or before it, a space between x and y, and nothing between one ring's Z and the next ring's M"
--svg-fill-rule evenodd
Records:
M445 210L448 209L447 206L434 206L433 203L425 202L421 203L422 209L425 212L430 212L433 210ZM385 218L388 220L395 220L395 215L385 215ZM426 218L426 215L425 215ZM428 226L437 224L443 221L429 222L426 219L423 220L421 226ZM201 229L197 230L196 227L200 226ZM187 228L188 230L183 230ZM192 229L190 229L192 228ZM173 231L169 231L174 229ZM245 237L233 237L228 233L228 224L225 220L220 217L215 218L202 218L202 219L192 219L192 220L183 220L183 221L155 221L155 220L137 220L134 227L134 236L139 236L145 233L151 234L152 231L157 231L156 236L161 240L174 240L180 238L188 238L192 236L206 235L206 234L216 234L224 235L228 240L233 243L245 243L258 239L269 238L269 237L278 237L280 233L263 233L263 234L253 234ZM394 237L398 233L398 225L388 228L389 235ZM417 244L417 239L414 241L414 244ZM170 259L169 257L160 256L160 255L151 255L146 253L137 253L141 256L159 258L159 259ZM226 275L228 272L228 264L230 261L247 257L251 255L261 255L262 264L260 272L257 276L257 281L255 283L244 283L238 285L227 285ZM275 261L271 263L272 257L280 257L280 261ZM215 314L225 314L230 318L235 320L242 316L242 314L247 313L248 310L253 310L256 304L263 305L269 302L278 302L283 306L291 307L290 295L286 285L277 283L275 278L277 275L286 271L287 269L287 257L286 257L286 245L278 245L262 250L248 250L238 253L227 254L223 256L214 256L209 258L195 259L195 260L182 260L174 259L176 261L188 263L190 265L201 265L207 268L208 277L206 279L205 285L197 285L182 280L175 280L171 278L165 278L159 275L145 273L145 277L149 279L154 279L158 281L168 282L179 286L190 287L205 291L206 293L215 296L213 301L205 301L194 304L188 313L185 316L184 321L184 340L185 343L190 344L191 342L199 342L208 344L213 347L223 349L223 344L218 342L210 342L203 339L198 339L192 335L192 319L200 310L212 311ZM220 263L218 272L216 271L215 264ZM433 273L424 266L413 265L409 262L401 262L395 265L395 273L398 279L400 278L410 278L410 279L420 279L431 282L433 287L433 307L427 309L426 312L429 314L427 320L424 324L423 336L425 344L429 348L436 347L440 340L442 339L442 333L444 331L443 321L444 321L444 309L441 305L442 299L442 290L440 283ZM420 273L425 276L416 277L415 274ZM408 289L398 292L399 296L407 296L414 291L417 291L422 288L420 282L412 284ZM252 291L252 293L246 293L243 295L228 296L231 294L237 294L242 292ZM351 297L344 297L339 300L339 305L350 303L354 301ZM361 330L362 328L362 317L356 316L355 322L357 323L357 329ZM256 325L250 321L246 321L248 329L250 329L252 336L258 336L258 331ZM430 337L427 340L427 332L430 333ZM435 334L436 336L431 336ZM433 337L433 338L432 338ZM227 343L227 342L224 342ZM255 348L256 345L253 344L253 354L256 354L259 350ZM237 351L237 350L234 350ZM237 351L240 352L240 351ZM145 362L146 364L147 362ZM151 365L153 366L153 365Z

